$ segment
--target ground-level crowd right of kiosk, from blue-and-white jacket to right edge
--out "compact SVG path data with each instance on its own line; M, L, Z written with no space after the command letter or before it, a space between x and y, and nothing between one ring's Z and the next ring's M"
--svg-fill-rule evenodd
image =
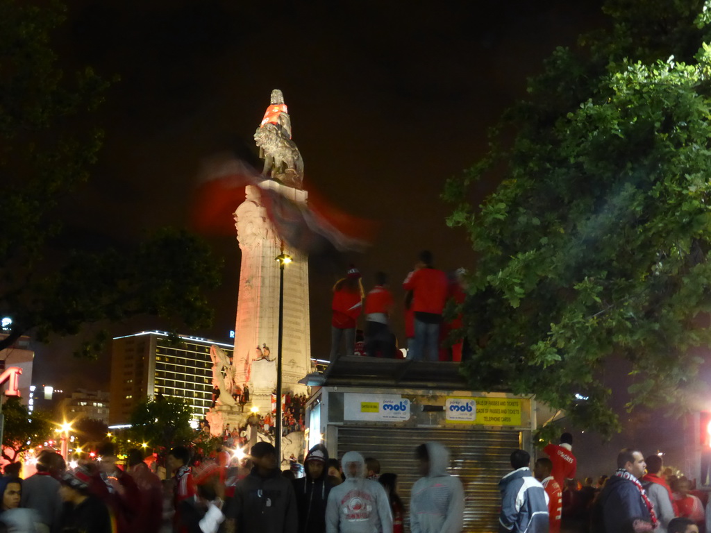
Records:
M661 456L619 452L617 470L597 483L574 477L572 436L549 443L535 461L523 450L510 457L513 472L501 480L503 531L517 533L711 532L708 492L664 468Z

